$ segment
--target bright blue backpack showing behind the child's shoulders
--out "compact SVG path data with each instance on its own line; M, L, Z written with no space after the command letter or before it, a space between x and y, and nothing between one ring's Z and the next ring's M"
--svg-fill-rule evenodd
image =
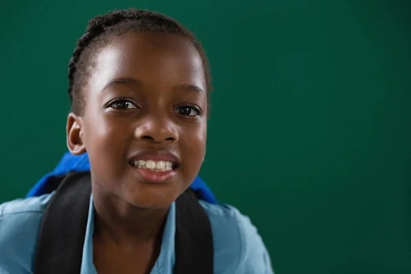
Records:
M26 197L36 197L45 194L45 188L47 182L51 177L64 175L70 171L90 171L90 162L88 162L88 155L84 153L82 155L72 155L70 152L64 153L62 159L55 166L55 169L51 173L44 175L38 182L29 190ZM194 179L194 182L190 185L190 188L194 190L199 199L208 201L208 203L217 203L216 198L212 194L212 191L206 185L203 180L197 176Z

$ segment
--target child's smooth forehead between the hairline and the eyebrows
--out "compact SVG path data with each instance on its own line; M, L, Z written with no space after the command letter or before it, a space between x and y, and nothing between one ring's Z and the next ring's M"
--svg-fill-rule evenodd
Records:
M190 40L176 35L131 33L116 37L95 55L88 87L101 90L116 77L148 86L193 84L206 90L201 55Z

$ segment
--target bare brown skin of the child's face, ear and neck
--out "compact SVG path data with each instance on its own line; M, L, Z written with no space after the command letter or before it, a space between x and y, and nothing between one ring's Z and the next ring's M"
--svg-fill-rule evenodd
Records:
M99 274L149 273L169 206L195 179L206 152L201 56L184 38L134 33L112 39L94 61L84 115L70 113L66 126L69 151L90 159L94 264ZM107 86L120 78L136 81ZM171 182L143 182L129 165L134 153L147 150L177 155Z

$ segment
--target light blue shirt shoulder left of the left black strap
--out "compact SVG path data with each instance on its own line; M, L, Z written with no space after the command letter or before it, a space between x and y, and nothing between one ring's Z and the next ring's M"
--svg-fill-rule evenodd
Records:
M0 204L0 273L31 273L38 229L51 195Z

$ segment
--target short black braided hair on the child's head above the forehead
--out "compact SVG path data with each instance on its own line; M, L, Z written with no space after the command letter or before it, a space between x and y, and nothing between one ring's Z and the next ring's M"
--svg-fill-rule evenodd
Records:
M201 43L182 24L169 16L147 10L114 10L104 15L97 15L88 21L86 33L77 40L77 45L69 62L69 97L71 111L77 115L84 113L84 96L82 86L90 77L93 64L93 53L112 38L129 32L146 32L151 34L173 34L188 39L195 46L203 61L206 77L207 95L210 98L210 66Z

